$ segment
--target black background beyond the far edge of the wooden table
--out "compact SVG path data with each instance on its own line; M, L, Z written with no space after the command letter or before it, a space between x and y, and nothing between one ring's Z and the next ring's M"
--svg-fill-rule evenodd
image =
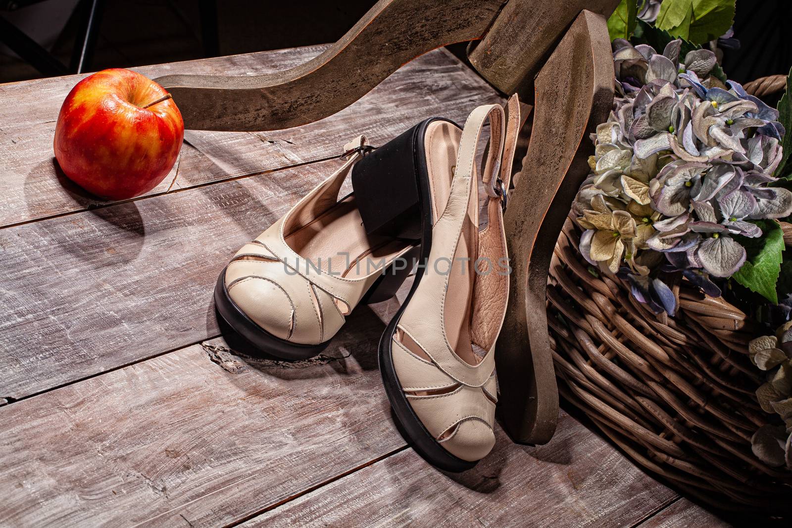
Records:
M82 0L83 6L92 1ZM32 5L25 6L31 2ZM68 66L82 22L81 9L74 9L79 2L0 0L0 17L32 36L55 59ZM95 51L86 71L333 42L375 0L104 0L100 3L104 7L97 26ZM10 9L13 5L17 9ZM210 8L204 11L205 24L202 24L202 5ZM748 82L763 75L786 74L792 65L790 23L792 0L738 0L734 29L741 49L725 51L723 66L729 78ZM211 38L213 32L216 40ZM463 45L457 45L452 51L463 55L463 50ZM8 48L0 47L0 82L45 76Z

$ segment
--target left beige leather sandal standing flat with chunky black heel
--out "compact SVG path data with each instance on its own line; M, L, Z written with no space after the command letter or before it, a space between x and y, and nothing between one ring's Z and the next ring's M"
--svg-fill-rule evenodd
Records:
M431 118L376 150L363 136L346 145L345 165L220 274L215 306L223 319L261 351L305 359L327 347L361 301L393 296L421 251L426 161L448 172L455 150L443 146L455 133L455 123ZM430 156L426 148L440 151ZM350 173L353 192L339 199Z

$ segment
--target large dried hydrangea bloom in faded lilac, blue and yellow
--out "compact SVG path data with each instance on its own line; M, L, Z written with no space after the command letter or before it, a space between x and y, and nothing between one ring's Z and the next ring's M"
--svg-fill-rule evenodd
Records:
M618 97L592 135L592 172L573 206L584 257L611 273L626 264L636 298L668 313L676 307L653 285L661 267L719 294L710 275L746 259L733 235L760 237L752 220L792 214L792 192L768 187L782 158L778 112L714 78L712 51L681 57L681 44L660 54L613 42Z

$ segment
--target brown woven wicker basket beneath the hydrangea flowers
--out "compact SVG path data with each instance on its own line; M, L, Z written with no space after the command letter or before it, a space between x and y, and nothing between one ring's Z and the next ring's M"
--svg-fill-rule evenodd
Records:
M772 417L755 397L764 380L748 358L756 337L748 317L684 280L672 286L676 317L656 316L619 279L589 270L579 238L567 221L547 287L562 397L681 491L725 510L790 515L792 473L751 450L754 431Z

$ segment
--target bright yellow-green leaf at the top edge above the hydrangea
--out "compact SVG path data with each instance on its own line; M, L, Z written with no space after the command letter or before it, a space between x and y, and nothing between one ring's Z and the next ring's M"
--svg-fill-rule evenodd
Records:
M723 35L734 21L734 0L664 0L655 25L693 44Z

